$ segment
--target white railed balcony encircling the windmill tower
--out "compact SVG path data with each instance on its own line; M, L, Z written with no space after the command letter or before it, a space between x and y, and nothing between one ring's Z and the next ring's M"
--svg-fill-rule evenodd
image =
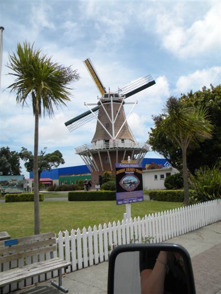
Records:
M77 154L83 153L87 150L102 150L102 149L144 149L144 151L149 151L149 146L146 143L135 143L132 140L99 140L93 142L92 144L84 144L80 147L76 147L75 151Z

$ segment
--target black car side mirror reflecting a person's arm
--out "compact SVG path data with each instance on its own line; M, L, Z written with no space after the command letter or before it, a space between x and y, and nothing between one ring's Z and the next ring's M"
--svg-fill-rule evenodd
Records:
M177 244L128 244L113 249L108 294L195 294L188 251Z

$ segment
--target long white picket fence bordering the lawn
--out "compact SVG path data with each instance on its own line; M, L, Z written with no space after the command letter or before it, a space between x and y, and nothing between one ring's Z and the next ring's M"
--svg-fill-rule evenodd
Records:
M138 217L117 223L114 221L112 224L109 222L108 225L105 223L103 226L99 224L98 228L94 226L93 230L90 226L88 230L84 227L82 232L79 228L72 229L70 235L67 230L60 231L56 240L57 254L71 262L71 266L65 270L68 273L107 261L114 246L159 243L217 221L221 221L220 199L146 215L142 219ZM41 260L44 259L48 259L47 256L42 256ZM13 265L13 262L11 265L3 264L1 270L8 270ZM53 276L56 275L55 271ZM22 281L19 285L13 283L10 287L6 286L2 293L6 294L17 287L28 286L51 277L52 274L48 273Z

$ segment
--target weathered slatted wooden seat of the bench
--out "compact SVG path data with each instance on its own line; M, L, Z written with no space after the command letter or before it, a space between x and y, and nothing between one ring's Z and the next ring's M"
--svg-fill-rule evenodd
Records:
M60 258L53 258L45 262L31 264L23 268L6 270L0 274L0 286L2 287L11 284L12 282L18 282L49 271L59 270L70 265L71 262L67 262L66 260Z

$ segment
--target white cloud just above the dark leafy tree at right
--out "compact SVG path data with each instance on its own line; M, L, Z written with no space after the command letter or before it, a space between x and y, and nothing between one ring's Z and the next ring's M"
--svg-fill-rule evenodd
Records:
M217 86L221 82L221 67L213 66L209 69L197 70L194 73L180 76L176 82L175 92L187 93L190 90L198 91L210 84Z

